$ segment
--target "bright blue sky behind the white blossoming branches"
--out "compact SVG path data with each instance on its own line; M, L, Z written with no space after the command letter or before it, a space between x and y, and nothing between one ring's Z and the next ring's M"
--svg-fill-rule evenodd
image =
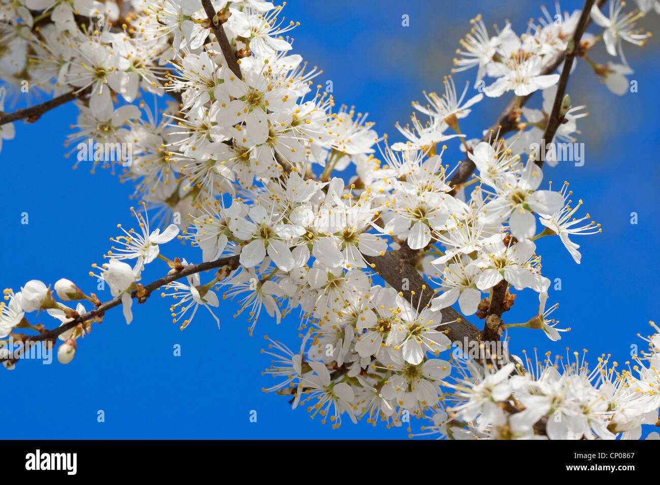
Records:
M508 18L517 32L525 21L538 17L535 1L504 3L471 1L327 2L290 0L286 21L296 20L294 51L310 65L323 69L317 81L333 81L337 104L355 105L370 113L379 133L398 139L395 121L405 124L411 101L422 90L442 90L442 77L451 69L453 51L467 32L469 19L484 15L488 26L504 26ZM373 5L378 5L374 8ZM562 2L564 9L581 2ZM554 11L554 9L553 9ZM402 26L409 15L410 25ZM657 22L656 18L651 19ZM651 22L647 23L647 26ZM491 30L492 32L492 30ZM568 92L574 104L587 104L589 117L580 120L585 143L585 164L570 163L544 170L544 180L571 183L574 199L603 227L597 236L577 240L583 253L576 265L558 238L539 241L543 270L551 280L561 278L560 291L550 291L559 302L553 316L560 326L572 327L560 342L550 342L540 331L514 329L510 348L519 352L534 347L553 354L589 350L591 362L600 354L612 354L622 366L631 346L643 347L637 333L647 335L649 320L658 318L655 296L660 236L657 224L659 196L657 165L659 115L657 79L660 63L654 55L656 38L644 48L626 46L626 57L635 70L630 79L638 92L611 94L585 64L572 76ZM600 62L610 60L602 46L593 54ZM457 75L457 86L474 81L475 71ZM505 96L506 97L506 96ZM480 137L508 102L508 98L482 102L461 125L468 137ZM535 96L529 106L538 107ZM17 106L25 106L20 100ZM46 113L33 125L16 123L16 138L5 141L3 207L5 237L0 240L0 276L3 287L16 291L27 280L47 284L65 277L84 290L93 290L96 279L88 276L91 263L101 263L108 238L117 234L117 223L133 225L129 199L133 187L119 183L107 170L89 173L84 162L72 170L73 158L65 158L65 137L75 123L74 106ZM447 152L445 160L459 160L459 152ZM21 224L22 213L28 224ZM631 224L631 213L638 224ZM162 249L168 257L195 258L195 251L170 243ZM144 279L160 277L154 263ZM164 271L164 268L162 269ZM109 300L110 292L97 292ZM527 321L535 313L537 296L531 290L519 294L510 323ZM298 348L298 319L292 315L280 325L260 319L254 336L248 336L247 317L232 318L236 306L221 302L220 330L210 315L201 311L192 325L180 331L169 315L170 302L152 298L133 306L135 319L126 325L120 311L111 311L102 325L79 340L77 355L67 366L44 366L25 360L13 372L0 372L5 399L0 412L9 416L7 436L15 438L394 438L407 436L404 429L387 430L366 422L353 426L345 420L339 430L310 420L304 408L290 410L287 399L261 392L273 385L262 376L269 360L259 353L263 335ZM46 315L44 315L46 316ZM42 323L53 325L49 317ZM473 321L479 324L473 317ZM181 356L174 356L174 346ZM98 411L104 422L98 422ZM250 412L257 422L250 422ZM44 419L44 416L50 416ZM26 427L25 422L39 426ZM413 426L413 428L416 428Z

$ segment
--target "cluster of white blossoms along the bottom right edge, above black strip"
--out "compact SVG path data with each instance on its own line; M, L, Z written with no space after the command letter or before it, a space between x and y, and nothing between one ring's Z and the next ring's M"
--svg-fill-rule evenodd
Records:
M642 424L657 424L660 406L660 334L644 340L649 350L620 372L605 354L591 370L586 351L581 358L567 352L566 362L550 352L543 362L536 355L524 363L459 359L457 373L441 383L443 408L422 430L452 439L640 439Z

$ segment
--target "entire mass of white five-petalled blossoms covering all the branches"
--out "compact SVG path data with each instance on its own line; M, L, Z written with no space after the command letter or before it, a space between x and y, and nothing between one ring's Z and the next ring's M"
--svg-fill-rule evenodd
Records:
M413 115L410 125L397 126L404 142L389 145L385 137L379 147L383 138L372 123L354 108L336 110L333 97L314 87L320 71L290 53L291 40L282 34L295 24L278 20L282 7L261 0L211 5L220 26L199 0L15 0L0 9L0 77L7 86L28 79L54 95L78 94L80 115L69 143L131 145L121 177L135 183L145 214L149 207L166 221L162 226L174 222L162 232L151 230L147 216L133 211L139 230L121 229L108 262L90 273L121 300L127 323L132 298L149 296L139 283L145 265L161 259L170 275L188 266L160 254L159 246L178 236L201 249L203 262L238 256L238 269L218 272L205 284L198 273L188 275L187 284L168 282L162 296L175 298L174 321L187 327L201 305L220 325L212 307L222 288L223 298L238 302L235 317L248 310L250 332L262 308L277 323L298 311L302 346L292 352L271 340L267 353L275 360L267 373L284 380L267 390L292 395L294 407L316 398L312 416L325 421L329 415L333 426L344 413L389 426L436 410L433 429L444 436L611 437L636 435L653 409L657 419L658 403L649 397L657 381L657 337L651 367L640 370L639 379L632 372L615 378L607 360L596 373L583 364L563 374L548 365L535 375L520 364L441 358L451 348L445 326L455 323L443 321L444 310L458 303L463 315L484 318L489 295L503 280L538 292L539 314L491 328L543 329L550 339L560 338L554 320L546 319L555 307L545 310L550 281L541 274L533 241L557 235L579 263L579 245L569 236L600 229L584 222L588 214L573 217L581 201L572 202L568 183L559 191L543 187L530 146L548 121L559 80L554 68L579 11L553 18L544 10L545 18L521 36L509 24L490 36L480 17L473 20L454 72L477 67L479 93L467 96L466 86L459 94L447 77L444 94L425 93L427 104L413 104L428 121ZM634 30L641 13L623 15L618 0L610 5L609 17L591 13L604 30L585 35L580 57L588 59L589 49L604 40L621 64L592 65L620 93L632 72L622 42L642 44L647 34ZM651 2L640 5L651 9ZM218 27L238 61L223 54ZM460 120L483 94L512 91L521 101L537 90L543 108L518 110L510 139L486 133L488 141L467 140L461 132ZM154 95L174 100L159 108L149 102ZM1 92L0 110L5 97ZM557 139L578 133L581 108L566 106ZM13 137L11 124L0 130L0 139ZM455 171L442 160L450 140L477 170L461 187L453 186ZM93 167L114 161L94 158ZM374 259L401 247L420 255L418 267L434 292L428 304L414 292L405 297L391 281L374 282ZM59 280L55 290L62 301L101 304L69 280ZM73 310L55 302L42 282L5 293L0 337L17 326L32 328L26 312L47 309L63 324L84 314L81 305ZM81 324L63 334L61 362L73 358L75 339L85 330ZM634 392L633 384L645 391ZM443 405L447 400L455 403ZM561 416L560 424L553 416ZM537 424L544 417L541 433Z

